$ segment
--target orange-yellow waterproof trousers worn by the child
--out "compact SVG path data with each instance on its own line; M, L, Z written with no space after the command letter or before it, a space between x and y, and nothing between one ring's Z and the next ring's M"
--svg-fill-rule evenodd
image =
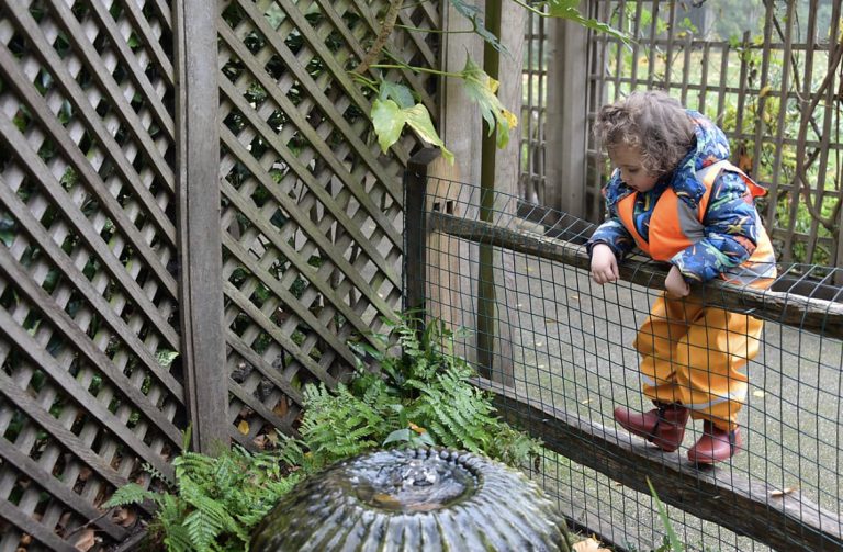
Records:
M752 316L663 293L634 341L644 394L682 403L694 419L737 428L749 386L742 369L758 353L763 328Z

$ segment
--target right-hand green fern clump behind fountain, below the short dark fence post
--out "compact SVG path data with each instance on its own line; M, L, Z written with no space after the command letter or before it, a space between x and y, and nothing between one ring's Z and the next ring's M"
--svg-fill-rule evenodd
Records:
M431 320L420 334L416 329L420 320L413 315L385 324L389 333L373 334L370 339L380 348L363 341L349 343L358 358L357 376L348 388L337 392L362 403L357 405L347 398L342 402L347 407L380 414L383 424L367 426L368 430L358 428L368 443L441 444L513 465L540 458L541 443L495 416L491 395L472 385L476 374L454 353L456 336L443 322ZM371 370L370 363L378 370ZM335 415L347 416L340 408L321 413L318 404L307 406L305 425L308 417L319 417L321 443L331 427L345 429L341 420L326 420ZM307 442L308 431L303 430L302 436Z

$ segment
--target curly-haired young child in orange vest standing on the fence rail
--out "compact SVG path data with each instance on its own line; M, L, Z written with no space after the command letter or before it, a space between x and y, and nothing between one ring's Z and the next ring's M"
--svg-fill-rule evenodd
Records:
M672 264L634 341L643 392L656 408L617 407L615 419L668 452L682 443L688 416L701 419L688 460L728 460L741 447L742 370L758 352L763 323L683 297L689 282L715 278L769 286L775 255L754 205L765 190L728 161L720 128L666 93L633 92L605 105L595 133L617 169L604 188L608 217L588 241L592 279L616 281L634 246Z

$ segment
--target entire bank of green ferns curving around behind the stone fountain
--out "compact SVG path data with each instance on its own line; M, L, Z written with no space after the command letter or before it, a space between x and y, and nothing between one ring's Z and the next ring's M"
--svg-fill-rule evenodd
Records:
M417 324L405 317L371 336L380 347L349 343L359 359L348 385L306 385L301 439L280 436L274 452L183 452L172 487L156 493L131 483L103 506L151 500L149 540L171 552L247 550L250 530L305 474L378 447L442 444L516 465L540 458L541 443L497 418L490 395L471 384L474 371L453 354L445 324L420 336ZM189 442L188 432L184 450Z

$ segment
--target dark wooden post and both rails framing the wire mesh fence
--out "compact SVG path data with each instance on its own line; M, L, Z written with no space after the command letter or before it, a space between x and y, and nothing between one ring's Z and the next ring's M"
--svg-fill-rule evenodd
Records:
M435 156L432 156L435 158ZM417 155L411 167L429 162L427 153ZM415 161L415 162L413 162ZM428 185L427 172L407 173L408 198L424 199ZM425 205L419 201L419 206ZM424 305L429 282L436 281L435 267L425 266L425 247L431 235L441 233L474 244L517 251L577 269L589 266L583 245L497 226L483 221L467 219L446 212L407 210L407 251L415 254L413 277L406 278L406 295L412 305ZM412 233L411 229L414 229ZM654 262L627 260L620 267L620 279L636 284L663 286L667 272ZM738 288L726 282L695 285L693 295L723 308L752 308L753 316L782 324L795 325L824 336L843 340L843 305L789 293ZM774 493L774 488L752 483L728 470L699 469L683 462L678 455L664 454L622 430L604 427L581 416L552 408L530 399L505 384L476 379L475 384L493 393L499 415L508 423L540 438L544 446L574 462L591 467L630 488L649 493L648 478L660 488L660 498L698 518L750 537L776 550L843 549L843 525L834 512L820 508L799 492ZM688 498L693 497L693 500ZM773 498L771 498L773 497ZM574 525L581 525L571 520ZM604 520L602 520L604 521ZM614 529L588 527L587 530L611 542Z

